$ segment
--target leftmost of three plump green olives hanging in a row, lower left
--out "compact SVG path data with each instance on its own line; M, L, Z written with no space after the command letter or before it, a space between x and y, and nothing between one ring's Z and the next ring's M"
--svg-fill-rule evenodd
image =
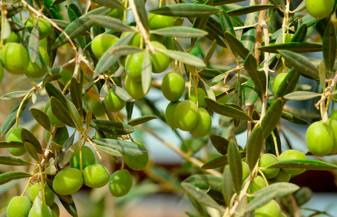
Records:
M83 185L83 176L80 170L66 168L56 174L53 180L53 189L62 195L73 194Z

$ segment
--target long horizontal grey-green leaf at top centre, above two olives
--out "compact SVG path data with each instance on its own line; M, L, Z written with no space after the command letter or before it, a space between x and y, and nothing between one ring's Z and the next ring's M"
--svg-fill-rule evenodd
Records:
M209 16L219 12L220 8L213 7L206 4L174 4L168 6L157 7L150 10L150 13L166 15L166 16L180 16L180 17L202 17Z

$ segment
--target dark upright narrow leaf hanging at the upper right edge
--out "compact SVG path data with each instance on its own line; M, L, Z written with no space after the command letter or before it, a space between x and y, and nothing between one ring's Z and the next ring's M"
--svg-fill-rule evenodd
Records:
M332 22L329 23L323 37L323 58L325 68L332 72L335 60L336 60L336 50L337 50L337 39L336 31Z

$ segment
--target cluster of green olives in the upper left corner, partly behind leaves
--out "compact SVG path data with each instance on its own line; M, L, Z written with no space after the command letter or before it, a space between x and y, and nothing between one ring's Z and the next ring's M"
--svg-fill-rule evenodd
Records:
M34 19L29 17L23 21L26 24L27 30L31 31L33 29L33 20L36 22L36 17ZM51 24L42 18L39 18L38 30L39 39L44 39L50 34ZM47 71L42 69L37 63L33 63L29 57L27 49L20 44L20 40L15 32L11 32L9 38L4 41L5 45L0 50L0 81L3 78L3 68L4 67L9 73L15 75L21 75L25 73L29 78L41 78ZM49 56L45 49L39 47L39 52L42 56L45 66L49 66Z

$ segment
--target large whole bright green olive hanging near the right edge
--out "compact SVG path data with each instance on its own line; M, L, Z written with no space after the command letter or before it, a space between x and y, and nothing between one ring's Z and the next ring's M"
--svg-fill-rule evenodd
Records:
M328 124L316 121L308 127L306 142L312 154L323 157L334 147L334 135Z

